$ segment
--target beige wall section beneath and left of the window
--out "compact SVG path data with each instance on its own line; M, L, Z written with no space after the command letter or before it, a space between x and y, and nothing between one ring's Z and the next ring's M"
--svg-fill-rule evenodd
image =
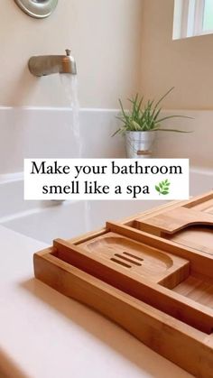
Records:
M213 109L213 34L172 41L173 0L144 0L141 91L170 109Z

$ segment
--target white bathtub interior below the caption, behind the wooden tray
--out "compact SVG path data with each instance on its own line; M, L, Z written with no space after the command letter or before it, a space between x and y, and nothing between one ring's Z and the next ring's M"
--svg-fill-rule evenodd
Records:
M55 238L69 239L104 226L106 220L129 217L156 205L155 201L56 202L51 207L38 207L21 217L5 220L4 226L51 244Z

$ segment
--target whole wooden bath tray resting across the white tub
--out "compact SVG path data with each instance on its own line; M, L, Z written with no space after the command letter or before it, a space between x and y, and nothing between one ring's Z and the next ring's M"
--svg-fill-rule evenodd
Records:
M213 255L172 240L193 222L211 235L212 202L210 192L106 222L76 239L56 239L34 254L35 277L194 376L213 377Z

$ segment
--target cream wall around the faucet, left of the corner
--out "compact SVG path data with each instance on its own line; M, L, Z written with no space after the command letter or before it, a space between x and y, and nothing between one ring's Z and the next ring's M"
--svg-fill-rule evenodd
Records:
M117 107L138 88L142 0L60 0L50 18L35 20L0 0L0 106L67 106L58 75L33 78L32 55L71 48L83 107Z

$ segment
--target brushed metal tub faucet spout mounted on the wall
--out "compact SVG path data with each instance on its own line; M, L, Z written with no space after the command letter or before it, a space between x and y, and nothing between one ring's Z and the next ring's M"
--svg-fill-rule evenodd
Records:
M69 73L76 75L76 61L66 50L66 55L42 55L28 61L30 72L34 76L51 75L52 73Z

